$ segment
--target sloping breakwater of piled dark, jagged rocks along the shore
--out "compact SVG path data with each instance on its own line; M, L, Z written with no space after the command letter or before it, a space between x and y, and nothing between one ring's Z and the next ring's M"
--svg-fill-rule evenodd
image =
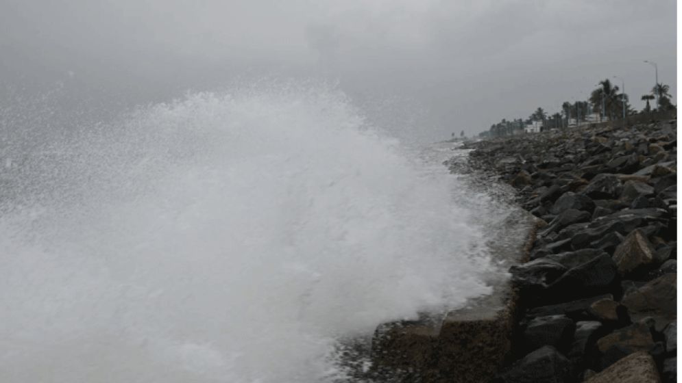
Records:
M511 184L545 223L528 262L510 269L522 314L496 382L616 382L632 371L675 382L677 120L468 147L466 171Z

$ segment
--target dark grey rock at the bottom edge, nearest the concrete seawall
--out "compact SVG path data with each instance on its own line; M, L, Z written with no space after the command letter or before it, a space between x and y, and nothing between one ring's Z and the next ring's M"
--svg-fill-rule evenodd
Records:
M544 346L517 361L500 378L505 383L564 383L570 372L570 360L555 347Z

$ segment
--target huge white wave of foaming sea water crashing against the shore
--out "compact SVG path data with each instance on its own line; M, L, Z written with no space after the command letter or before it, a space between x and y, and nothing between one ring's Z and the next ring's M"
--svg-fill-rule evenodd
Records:
M342 339L499 271L492 202L441 165L452 147L409 148L334 89L191 93L68 129L4 113L2 382L333 382Z

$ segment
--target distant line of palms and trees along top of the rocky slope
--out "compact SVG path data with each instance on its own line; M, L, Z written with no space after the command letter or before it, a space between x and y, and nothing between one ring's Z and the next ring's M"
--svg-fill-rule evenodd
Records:
M649 94L642 95L642 100L646 101L646 107L641 111L635 110L630 105L629 96L619 93L618 85L613 85L609 79L599 82L598 88L592 90L587 101L575 101L570 103L565 101L561 104L561 109L555 114L548 114L544 109L538 107L528 118L514 118L507 120L502 118L497 124L492 124L488 131L480 133L480 136L499 137L504 135L514 135L524 133L527 125L533 122L541 122L543 129L566 129L587 120L587 116L598 115L596 122L618 120L625 116L635 114L652 114L659 111L676 111L677 107L672 105L670 86L657 83ZM657 107L653 108L650 101L657 99ZM594 120L592 122L595 122Z

